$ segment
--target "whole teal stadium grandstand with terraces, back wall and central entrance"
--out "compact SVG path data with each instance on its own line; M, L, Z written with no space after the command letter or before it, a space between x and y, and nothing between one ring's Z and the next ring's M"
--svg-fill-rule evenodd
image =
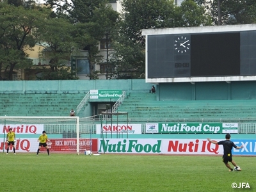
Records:
M114 112L127 112L129 122L252 122L256 119L256 91L253 91L255 83L252 81L234 82L232 86L228 83L208 83L214 90L212 93L209 93L210 90L207 90L204 83L179 83L179 89L177 84L159 84L156 85L156 94L150 93L152 84L145 83L143 79L111 80L111 83L99 81L99 88L111 84L109 90L121 89L125 92ZM74 89L74 81L54 81L52 87L45 90L47 81L41 81L39 86L38 81L24 81L25 87L21 86L19 89L16 88L19 81L5 83L6 81L1 82L0 116L69 116L70 109L74 108L76 111L84 97L90 95L87 88L98 90L97 86L93 88L93 84L99 84L97 80L76 81L77 89ZM66 84L63 86L65 89L59 84ZM29 87L37 87L37 90ZM200 100L193 99L193 94ZM218 99L213 99L215 96ZM115 106L117 100L118 98L88 98L76 114L80 118L93 116L99 120L100 113L108 111L108 106ZM120 116L120 120L122 118L126 117Z

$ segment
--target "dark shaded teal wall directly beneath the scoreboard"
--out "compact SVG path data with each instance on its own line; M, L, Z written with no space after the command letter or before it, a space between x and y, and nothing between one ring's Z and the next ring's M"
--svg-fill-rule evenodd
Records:
M159 83L157 100L254 100L256 81Z

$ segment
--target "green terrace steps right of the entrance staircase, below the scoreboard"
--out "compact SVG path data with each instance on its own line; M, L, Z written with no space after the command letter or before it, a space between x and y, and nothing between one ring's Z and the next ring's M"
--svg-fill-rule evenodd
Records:
M155 94L131 93L118 111L141 120L253 118L256 100L169 100L157 101Z

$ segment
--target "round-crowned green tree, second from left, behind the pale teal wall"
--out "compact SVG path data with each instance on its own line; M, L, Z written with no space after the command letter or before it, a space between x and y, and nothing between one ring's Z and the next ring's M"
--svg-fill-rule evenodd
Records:
M38 27L40 36L38 44L44 47L44 58L49 60L51 70L44 70L41 79L77 79L72 76L67 60L70 60L72 52L76 51L77 44L74 42L72 33L74 26L64 18L45 19L44 24Z

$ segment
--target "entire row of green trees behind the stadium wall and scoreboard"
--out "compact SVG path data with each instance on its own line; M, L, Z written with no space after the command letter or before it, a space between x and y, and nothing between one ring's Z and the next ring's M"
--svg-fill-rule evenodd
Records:
M172 0L123 0L120 15L109 2L48 0L52 12L30 0L1 1L0 79L12 80L13 70L29 69L32 61L25 51L38 43L51 60L42 79L76 79L63 63L79 49L87 51L90 79L97 79L100 63L106 63L107 79L145 78L142 29L256 22L255 0L184 0L180 6ZM102 39L106 60L98 56Z

